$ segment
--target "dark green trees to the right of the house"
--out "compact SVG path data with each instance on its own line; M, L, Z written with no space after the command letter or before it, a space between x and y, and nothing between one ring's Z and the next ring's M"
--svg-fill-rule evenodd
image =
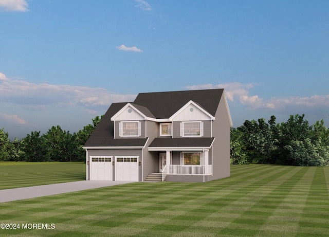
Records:
M309 125L305 115L290 115L276 123L271 116L246 120L231 129L231 163L269 163L291 166L329 166L329 129L323 120Z

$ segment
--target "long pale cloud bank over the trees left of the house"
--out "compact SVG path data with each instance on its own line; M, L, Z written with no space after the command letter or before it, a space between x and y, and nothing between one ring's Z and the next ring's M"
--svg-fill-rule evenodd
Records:
M102 110L113 102L129 102L136 95L109 93L104 88L53 85L8 79L0 72L0 101L21 105L28 110L45 110L49 106L82 106L89 112ZM94 112L93 112L94 113Z

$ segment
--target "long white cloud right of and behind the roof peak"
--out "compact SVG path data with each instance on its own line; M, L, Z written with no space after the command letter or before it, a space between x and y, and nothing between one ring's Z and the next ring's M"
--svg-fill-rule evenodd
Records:
M270 99L264 99L258 95L249 95L249 89L256 84L242 84L238 82L225 83L225 84L204 84L187 86L187 89L213 89L224 88L227 99L229 101L239 101L251 110L267 109L267 110L283 110L290 108L329 108L329 95L313 95L310 97L272 97Z

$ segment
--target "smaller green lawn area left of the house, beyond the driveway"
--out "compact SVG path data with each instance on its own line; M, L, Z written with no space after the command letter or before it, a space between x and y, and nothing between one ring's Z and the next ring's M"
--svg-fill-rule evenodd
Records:
M85 179L86 164L83 162L0 161L0 189L66 183Z

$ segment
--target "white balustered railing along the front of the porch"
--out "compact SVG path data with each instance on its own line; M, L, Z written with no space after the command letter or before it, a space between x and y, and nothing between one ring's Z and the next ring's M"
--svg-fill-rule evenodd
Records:
M212 165L208 165L208 172L206 172L205 167L206 166L170 165L166 167L166 171L167 174L212 174Z

